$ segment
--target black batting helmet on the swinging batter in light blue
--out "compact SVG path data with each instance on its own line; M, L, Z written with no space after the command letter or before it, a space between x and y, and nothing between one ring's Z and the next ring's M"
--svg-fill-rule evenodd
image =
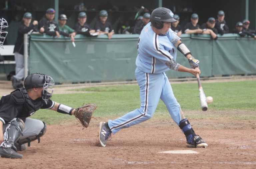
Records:
M151 13L150 22L156 29L162 29L164 27L164 22L175 22L173 18L173 13L167 8L156 8Z

